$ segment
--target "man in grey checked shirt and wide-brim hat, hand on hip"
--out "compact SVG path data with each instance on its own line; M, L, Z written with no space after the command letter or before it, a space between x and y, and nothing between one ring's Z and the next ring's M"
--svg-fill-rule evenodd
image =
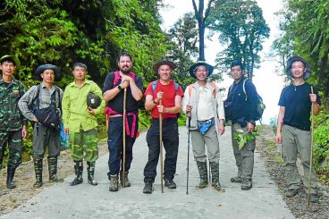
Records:
M19 101L21 114L34 123L33 133L33 161L36 173L36 183L34 187L41 187L43 157L45 156L46 146L48 147L48 171L49 181L63 181L57 177L57 157L60 154L59 131L43 126L38 122L33 114L36 109L48 108L55 105L58 113L58 120L62 121L61 102L63 90L54 85L55 79L59 77L59 69L53 64L39 65L35 76L42 80L40 84L32 86ZM32 109L33 108L33 109ZM56 127L57 128L57 127Z

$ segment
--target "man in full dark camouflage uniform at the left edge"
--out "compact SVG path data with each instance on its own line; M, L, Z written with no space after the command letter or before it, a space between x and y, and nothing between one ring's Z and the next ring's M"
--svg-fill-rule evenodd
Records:
M13 78L13 72L19 68L20 61L12 55L0 58L0 169L4 160L5 148L9 147L7 164L8 189L14 189L13 175L21 164L21 139L26 137L26 120L18 108L18 101L24 95L23 84Z

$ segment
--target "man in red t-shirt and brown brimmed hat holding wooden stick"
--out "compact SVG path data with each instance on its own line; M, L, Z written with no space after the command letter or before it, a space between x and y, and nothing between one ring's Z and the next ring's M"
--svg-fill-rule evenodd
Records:
M154 65L160 79L148 85L145 91L145 108L151 111L152 122L148 130L148 163L144 168L144 193L152 193L153 182L156 178L156 165L160 154L159 113L163 114L163 143L165 147L165 186L176 189L173 181L176 173L178 155L178 123L177 115L181 112L181 98L184 93L180 86L171 80L171 74L176 64L161 61ZM161 102L161 103L160 103Z

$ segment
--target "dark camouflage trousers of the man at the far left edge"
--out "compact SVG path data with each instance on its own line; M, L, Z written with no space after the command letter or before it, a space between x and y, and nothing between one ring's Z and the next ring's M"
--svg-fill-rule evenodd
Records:
M0 131L0 169L7 146L9 147L8 166L17 168L21 164L21 144L21 130Z

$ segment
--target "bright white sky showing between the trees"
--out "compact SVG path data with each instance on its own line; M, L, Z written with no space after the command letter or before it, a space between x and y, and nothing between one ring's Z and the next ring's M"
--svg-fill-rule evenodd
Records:
M173 26L173 23L177 21L184 13L193 12L191 0L164 0L164 3L170 4L171 6L160 11L164 19L163 29L170 29ZM277 68L278 63L276 63L274 59L266 57L270 50L270 46L272 46L274 38L276 38L279 33L278 18L275 17L274 13L281 9L282 1L257 0L257 3L262 8L263 16L267 25L271 29L270 38L266 39L264 42L264 49L260 54L262 57L262 62L260 63L261 67L254 71L253 78L257 92L261 97L263 97L266 105L266 111L263 114L263 123L268 123L271 118L276 117L278 114L279 107L277 103L279 101L281 90L284 86L283 78L279 77L275 73L275 68ZM207 62L215 64L215 56L220 51L221 45L218 43L217 38L213 38L212 41L206 39L205 46ZM219 86L228 90L228 87L231 84L232 79L227 76L224 77L224 81L220 83Z

